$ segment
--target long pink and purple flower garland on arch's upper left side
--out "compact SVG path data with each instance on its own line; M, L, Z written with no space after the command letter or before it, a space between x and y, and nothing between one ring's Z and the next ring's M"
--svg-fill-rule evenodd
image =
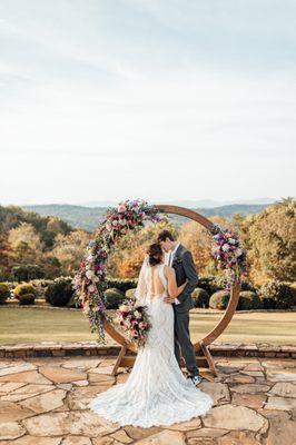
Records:
M98 340L105 342L103 319L106 315L106 273L107 259L116 241L124 235L136 231L145 226L146 220L158 222L162 219L155 206L145 200L126 200L117 208L109 208L105 219L99 225L95 239L86 249L72 284L77 300L82 312L89 318L91 332L98 333Z

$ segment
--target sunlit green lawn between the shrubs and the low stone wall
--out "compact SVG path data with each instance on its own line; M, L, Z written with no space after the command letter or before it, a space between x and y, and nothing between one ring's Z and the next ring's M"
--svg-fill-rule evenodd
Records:
M194 342L208 333L221 314L190 313ZM96 340L79 310L0 307L0 344ZM296 345L296 313L237 313L217 342ZM111 343L111 342L110 342Z

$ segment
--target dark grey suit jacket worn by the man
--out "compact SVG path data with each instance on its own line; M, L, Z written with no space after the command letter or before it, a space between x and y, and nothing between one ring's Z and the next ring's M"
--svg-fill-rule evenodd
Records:
M188 312L194 307L191 293L197 286L198 274L195 268L191 253L181 244L176 250L171 267L174 267L176 271L176 280L178 286L181 286L186 279L188 279L185 289L177 297L180 304L176 305L174 303L172 305L177 313Z

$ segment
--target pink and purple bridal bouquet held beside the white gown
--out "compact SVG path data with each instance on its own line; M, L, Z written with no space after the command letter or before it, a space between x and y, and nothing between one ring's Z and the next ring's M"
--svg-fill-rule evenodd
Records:
M137 346L145 345L151 327L146 306L137 306L134 301L126 300L117 310L117 320L131 342Z

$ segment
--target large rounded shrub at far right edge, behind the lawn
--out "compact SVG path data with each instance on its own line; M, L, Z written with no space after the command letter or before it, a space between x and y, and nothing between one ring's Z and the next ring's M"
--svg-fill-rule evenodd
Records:
M294 294L289 285L278 280L267 281L260 287L260 299L265 307L274 306L275 309L288 309L294 305Z

